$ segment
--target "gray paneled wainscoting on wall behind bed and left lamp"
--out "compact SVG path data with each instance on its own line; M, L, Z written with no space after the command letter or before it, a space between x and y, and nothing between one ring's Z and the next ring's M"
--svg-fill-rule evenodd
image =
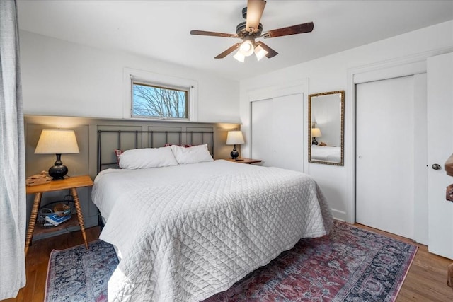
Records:
M69 168L68 175L90 175L94 180L98 173L98 154L102 163L114 163L116 168L115 149L158 147L164 144L207 144L215 159L227 158L231 147L226 145L226 135L229 130L239 130L239 124L208 123L208 122L175 122L102 119L92 117L57 117L41 115L25 115L25 173L38 174L47 170L55 163L55 154L35 154L36 144L42 129L73 129L76 132L80 153L64 154L62 161ZM120 138L117 137L120 130ZM103 132L99 134L98 131ZM132 133L128 133L132 132ZM154 132L154 134L149 134ZM173 133L176 132L176 133ZM203 132L203 134L195 133ZM204 132L207 132L206 134ZM101 139L99 136L101 135ZM137 137L137 140L135 139ZM152 137L152 139L151 139ZM120 142L119 142L120 140ZM98 152L101 144L101 152ZM120 148L119 148L120 147ZM107 168L108 165L103 166ZM84 215L85 227L98 224L98 209L91 202L91 188L77 190ZM54 194L55 193L55 194ZM42 196L42 204L61 200L66 191L46 193ZM30 216L33 205L33 194L27 196L27 215ZM64 231L62 231L64 232ZM34 236L35 240L50 236Z

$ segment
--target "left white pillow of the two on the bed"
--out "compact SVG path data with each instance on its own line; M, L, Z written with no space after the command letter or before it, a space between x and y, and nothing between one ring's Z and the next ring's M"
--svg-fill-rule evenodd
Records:
M120 155L120 168L145 169L178 165L169 147L126 150Z

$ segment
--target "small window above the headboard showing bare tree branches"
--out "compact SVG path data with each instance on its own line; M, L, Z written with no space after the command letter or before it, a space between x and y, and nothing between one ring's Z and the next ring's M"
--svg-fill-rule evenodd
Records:
M132 80L132 117L189 120L189 91Z

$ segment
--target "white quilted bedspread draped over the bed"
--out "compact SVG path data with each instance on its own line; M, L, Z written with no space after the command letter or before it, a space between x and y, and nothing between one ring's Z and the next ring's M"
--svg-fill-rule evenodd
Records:
M92 197L122 257L109 301L203 300L333 223L309 176L228 161L104 170Z

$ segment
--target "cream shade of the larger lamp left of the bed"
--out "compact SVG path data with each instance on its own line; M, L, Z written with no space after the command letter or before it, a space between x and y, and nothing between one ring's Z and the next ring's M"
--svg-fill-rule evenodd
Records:
M79 153L74 130L44 129L36 145L35 154Z

